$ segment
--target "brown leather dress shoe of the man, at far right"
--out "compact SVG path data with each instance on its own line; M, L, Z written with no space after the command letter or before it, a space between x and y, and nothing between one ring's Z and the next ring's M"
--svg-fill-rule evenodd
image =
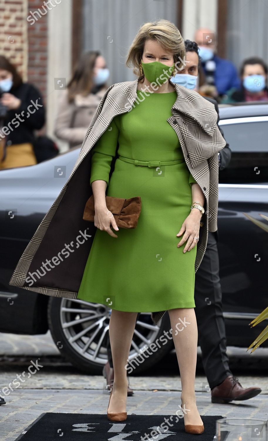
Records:
M244 389L237 377L229 375L220 385L211 389L211 401L212 403L224 404L233 400L248 400L260 392L261 389L259 387Z

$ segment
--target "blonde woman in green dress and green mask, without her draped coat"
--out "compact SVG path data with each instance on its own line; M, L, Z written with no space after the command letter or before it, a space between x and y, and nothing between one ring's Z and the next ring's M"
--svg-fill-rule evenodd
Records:
M131 112L115 116L93 148L90 185L98 229L77 299L104 304L110 301L114 393L107 413L116 421L126 418L125 366L137 313L169 311L180 368L185 430L202 433L195 399L198 333L194 310L196 244L202 214L191 206L194 202L204 205L205 197L167 121L177 98L168 78L176 72L174 60L184 53L179 30L167 20L144 24L129 49L127 64L138 64L142 73L138 96ZM117 142L119 157L109 179ZM170 163L150 167L129 159ZM141 197L135 229L117 228L106 207L106 194Z

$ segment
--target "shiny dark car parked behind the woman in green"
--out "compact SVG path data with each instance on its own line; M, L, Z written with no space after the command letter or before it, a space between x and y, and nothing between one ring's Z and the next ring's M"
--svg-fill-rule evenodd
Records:
M268 103L220 106L220 125L232 150L229 167L220 172L218 210L220 280L231 346L248 347L253 342L262 327L251 329L249 322L268 306L268 235L245 215L260 221L259 213L268 216L267 115ZM22 252L70 176L79 151L80 146L37 165L0 172L0 331L42 334L50 329L55 344L73 365L100 374L107 361L108 307L9 285ZM141 313L129 359L169 329L167 313L157 326L150 313ZM136 372L154 365L171 348L173 340L158 346Z

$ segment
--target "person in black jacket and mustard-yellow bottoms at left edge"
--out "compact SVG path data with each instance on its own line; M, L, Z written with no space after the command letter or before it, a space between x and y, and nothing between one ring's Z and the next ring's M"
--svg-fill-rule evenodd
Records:
M23 82L16 67L0 56L0 169L37 164L34 132L44 123L40 90Z

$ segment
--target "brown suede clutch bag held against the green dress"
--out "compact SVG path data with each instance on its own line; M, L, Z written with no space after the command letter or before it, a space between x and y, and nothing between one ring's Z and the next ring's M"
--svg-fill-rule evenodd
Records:
M136 228L141 210L140 196L129 199L106 196L105 200L108 210L114 215L118 228ZM94 216L95 208L92 194L84 207L83 219L84 221L94 222Z

